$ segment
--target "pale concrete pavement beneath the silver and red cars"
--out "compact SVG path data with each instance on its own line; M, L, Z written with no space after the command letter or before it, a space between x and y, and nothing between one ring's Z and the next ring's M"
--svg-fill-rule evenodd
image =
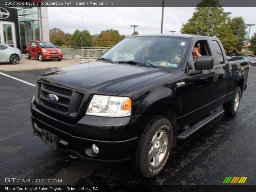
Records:
M46 69L46 68L60 68L69 65L75 65L83 62L92 62L96 59L62 59L61 61L51 60L51 61L39 61L36 58L26 59L23 56L22 60L17 65L12 65L10 63L0 63L0 70L3 71L24 71L24 70L35 70L35 69Z

